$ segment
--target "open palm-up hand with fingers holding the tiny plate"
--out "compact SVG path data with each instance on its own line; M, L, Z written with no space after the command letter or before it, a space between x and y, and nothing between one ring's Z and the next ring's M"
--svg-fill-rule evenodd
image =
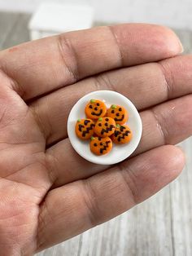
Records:
M0 53L1 256L76 236L177 177L185 160L172 145L192 133L192 57L181 51L169 29L124 24ZM127 96L142 117L137 151L116 166L82 159L66 130L73 104L103 89Z

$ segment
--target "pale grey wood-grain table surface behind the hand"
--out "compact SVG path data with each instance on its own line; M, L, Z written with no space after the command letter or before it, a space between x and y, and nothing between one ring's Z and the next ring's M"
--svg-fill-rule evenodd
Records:
M0 50L29 40L29 18L0 12ZM185 53L192 52L192 33L177 30L177 34ZM185 140L181 147L187 162L172 184L129 212L37 255L191 256L192 140Z

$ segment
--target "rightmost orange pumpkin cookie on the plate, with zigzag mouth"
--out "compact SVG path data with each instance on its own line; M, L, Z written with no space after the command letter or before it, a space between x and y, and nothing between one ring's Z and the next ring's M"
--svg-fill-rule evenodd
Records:
M129 143L129 141L132 139L132 131L130 130L129 126L120 126L117 124L115 133L111 136L111 139L114 143L118 144Z

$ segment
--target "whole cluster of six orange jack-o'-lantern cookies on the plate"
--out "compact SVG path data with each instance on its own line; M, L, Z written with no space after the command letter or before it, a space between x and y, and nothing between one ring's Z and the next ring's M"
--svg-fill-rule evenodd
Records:
M124 107L113 104L107 109L103 101L90 99L85 106L85 115L87 118L76 121L76 135L83 140L90 139L90 151L95 155L110 152L113 142L124 144L132 139L132 131L124 125L128 121Z

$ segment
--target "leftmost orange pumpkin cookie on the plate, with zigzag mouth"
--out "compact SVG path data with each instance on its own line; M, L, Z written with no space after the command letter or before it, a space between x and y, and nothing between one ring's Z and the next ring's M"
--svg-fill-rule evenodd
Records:
M94 135L94 121L90 119L78 119L76 121L76 135L80 139L90 139Z

